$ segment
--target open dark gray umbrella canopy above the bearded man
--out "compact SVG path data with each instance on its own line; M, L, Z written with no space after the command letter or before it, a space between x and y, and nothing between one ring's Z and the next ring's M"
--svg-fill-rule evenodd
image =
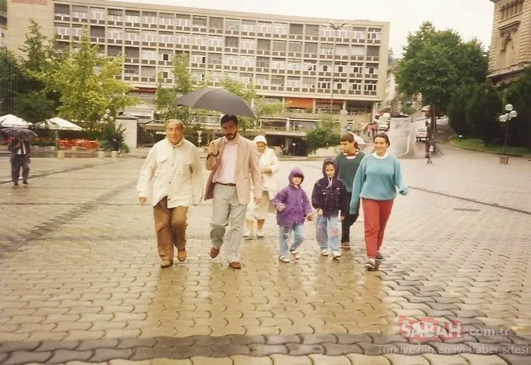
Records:
M222 88L206 88L189 92L175 100L175 104L257 118L256 113L245 100Z

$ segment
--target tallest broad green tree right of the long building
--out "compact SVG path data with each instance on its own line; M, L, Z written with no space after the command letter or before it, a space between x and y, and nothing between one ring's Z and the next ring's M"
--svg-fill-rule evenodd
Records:
M424 22L407 37L403 58L395 73L400 90L409 95L422 93L431 105L431 123L446 112L451 95L463 83L482 82L487 76L487 52L477 40L463 42L453 30L436 30Z

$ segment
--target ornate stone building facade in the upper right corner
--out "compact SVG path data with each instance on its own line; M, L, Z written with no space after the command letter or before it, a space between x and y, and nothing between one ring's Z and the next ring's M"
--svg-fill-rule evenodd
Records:
M489 78L496 84L511 83L531 64L531 1L494 2Z

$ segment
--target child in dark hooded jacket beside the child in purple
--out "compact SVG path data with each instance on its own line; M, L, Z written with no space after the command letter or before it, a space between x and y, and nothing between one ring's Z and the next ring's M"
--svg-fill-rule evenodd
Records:
M338 179L339 164L333 157L323 162L322 179L314 184L311 205L317 210L316 240L321 249L321 256L328 256L328 243L335 260L341 258L339 251L339 222L349 212L347 189ZM341 212L341 215L339 216Z

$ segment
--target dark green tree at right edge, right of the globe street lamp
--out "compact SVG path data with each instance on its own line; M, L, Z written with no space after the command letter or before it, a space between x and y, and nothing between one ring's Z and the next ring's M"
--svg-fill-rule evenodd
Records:
M518 112L509 122L508 144L531 149L531 67L525 69L523 76L508 87L505 93L506 103L513 104ZM503 110L499 110L501 114Z

